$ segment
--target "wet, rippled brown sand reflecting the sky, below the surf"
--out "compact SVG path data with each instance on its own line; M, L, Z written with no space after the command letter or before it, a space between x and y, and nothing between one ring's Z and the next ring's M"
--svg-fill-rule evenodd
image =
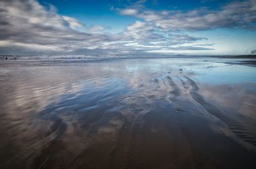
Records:
M255 70L212 59L1 63L0 168L256 168Z

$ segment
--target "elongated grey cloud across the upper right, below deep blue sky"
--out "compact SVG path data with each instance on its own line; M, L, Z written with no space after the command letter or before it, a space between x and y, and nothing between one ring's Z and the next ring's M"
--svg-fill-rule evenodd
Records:
M118 11L121 15L132 15L146 22L154 23L155 26L163 30L201 31L220 27L256 29L256 0L234 1L225 4L220 10L199 8L186 12L154 11L131 6L123 10L118 9Z

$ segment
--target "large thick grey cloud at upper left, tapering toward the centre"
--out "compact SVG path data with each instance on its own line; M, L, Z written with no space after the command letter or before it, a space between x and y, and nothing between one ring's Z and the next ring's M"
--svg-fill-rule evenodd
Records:
M46 10L33 0L1 1L0 16L4 21L0 26L0 40L8 47L69 52L77 48L99 48L106 41L115 41L115 37L108 35L77 31L83 27L78 20Z

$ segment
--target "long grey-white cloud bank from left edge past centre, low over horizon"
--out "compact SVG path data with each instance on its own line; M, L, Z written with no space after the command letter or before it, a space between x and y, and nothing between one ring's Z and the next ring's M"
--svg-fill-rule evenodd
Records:
M141 6L144 2L137 4ZM54 6L42 6L35 0L0 1L0 54L145 54L159 48L209 50L193 45L179 47L207 39L163 31L156 26L155 21L161 16L154 11L120 10L122 15L147 13L147 20L136 21L117 34L104 33L103 26L88 27L57 12Z

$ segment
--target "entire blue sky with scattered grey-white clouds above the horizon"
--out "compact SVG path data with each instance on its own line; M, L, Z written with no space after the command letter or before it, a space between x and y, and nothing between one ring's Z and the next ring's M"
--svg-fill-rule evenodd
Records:
M256 0L1 0L0 55L256 54Z

